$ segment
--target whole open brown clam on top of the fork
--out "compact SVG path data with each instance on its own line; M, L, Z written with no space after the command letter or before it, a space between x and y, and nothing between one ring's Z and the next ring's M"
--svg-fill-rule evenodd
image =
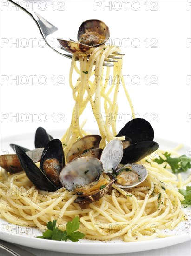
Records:
M57 39L67 51L76 55L89 55L95 47L104 44L110 36L109 27L101 20L86 20L78 30L78 41Z

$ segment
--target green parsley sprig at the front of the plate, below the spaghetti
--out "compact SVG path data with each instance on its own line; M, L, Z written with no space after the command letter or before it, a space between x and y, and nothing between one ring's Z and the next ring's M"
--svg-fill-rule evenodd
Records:
M37 236L37 238L50 239L57 241L67 241L78 242L79 239L83 238L85 235L79 231L79 216L76 216L72 222L66 224L66 230L61 231L56 227L56 220L47 223L47 230L43 232L43 236Z

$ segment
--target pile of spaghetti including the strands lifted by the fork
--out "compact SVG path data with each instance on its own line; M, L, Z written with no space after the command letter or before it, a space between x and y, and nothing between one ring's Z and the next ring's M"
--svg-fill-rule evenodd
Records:
M132 114L134 113L122 77L122 60L114 64L112 76L116 77L116 81L112 81L112 85L108 85L110 67L103 67L104 59L117 51L119 48L99 46L94 49L89 60L87 57L79 57L80 68L77 67L74 57L72 58L70 86L75 106L71 125L62 138L63 144L67 145L65 155L79 137L87 135L83 130L83 123L79 123L79 117L88 102L95 118L96 113L105 112L109 115L118 112L117 96L121 82ZM75 84L72 81L74 70L79 74ZM103 74L106 77L105 83L99 79ZM102 105L104 111L101 109ZM99 118L97 124L102 137L100 147L104 148L106 141L111 141L117 134L116 123L107 119L104 122ZM178 155L176 150L178 148L169 152L171 155ZM158 150L157 153L165 160L163 151ZM170 166L164 168L165 164L158 165L152 158L149 156L139 162L148 170L147 179L140 185L127 192L113 184L110 194L87 205L74 203L77 195L65 188L55 192L41 191L29 181L25 172L10 175L1 170L0 217L17 225L40 228L44 226L45 229L47 222L57 219L59 228L64 230L68 221L79 216L79 230L86 238L93 240L120 238L130 242L165 237L160 230L174 229L179 222L186 219L181 209L184 197L177 188L190 182L190 177L183 181L180 174L177 178L169 171Z

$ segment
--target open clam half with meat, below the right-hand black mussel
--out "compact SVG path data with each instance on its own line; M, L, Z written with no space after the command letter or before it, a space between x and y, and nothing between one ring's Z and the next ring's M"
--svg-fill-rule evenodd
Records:
M126 164L122 168L118 169L116 171L116 175L119 175L126 168L127 169L130 168L133 173L138 174L138 180L137 180L137 182L134 182L131 185L121 185L121 184L118 183L118 181L116 181L115 184L118 185L122 189L128 189L128 188L132 188L132 187L138 186L140 183L145 181L146 177L148 176L148 171L147 171L147 169L143 165L141 165L141 164L133 164L133 163L132 164ZM131 173L131 171L130 171L130 173ZM116 179L118 179L118 176L116 177ZM130 180L134 179L134 174L133 174L133 177L129 176L129 179ZM127 180L127 182L128 182L128 180Z

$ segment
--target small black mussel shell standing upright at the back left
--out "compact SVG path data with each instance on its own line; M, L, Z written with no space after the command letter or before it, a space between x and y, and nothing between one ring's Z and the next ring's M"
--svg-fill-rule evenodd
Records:
M52 140L53 137L49 135L44 128L37 128L34 140L35 148L45 148L48 142Z

